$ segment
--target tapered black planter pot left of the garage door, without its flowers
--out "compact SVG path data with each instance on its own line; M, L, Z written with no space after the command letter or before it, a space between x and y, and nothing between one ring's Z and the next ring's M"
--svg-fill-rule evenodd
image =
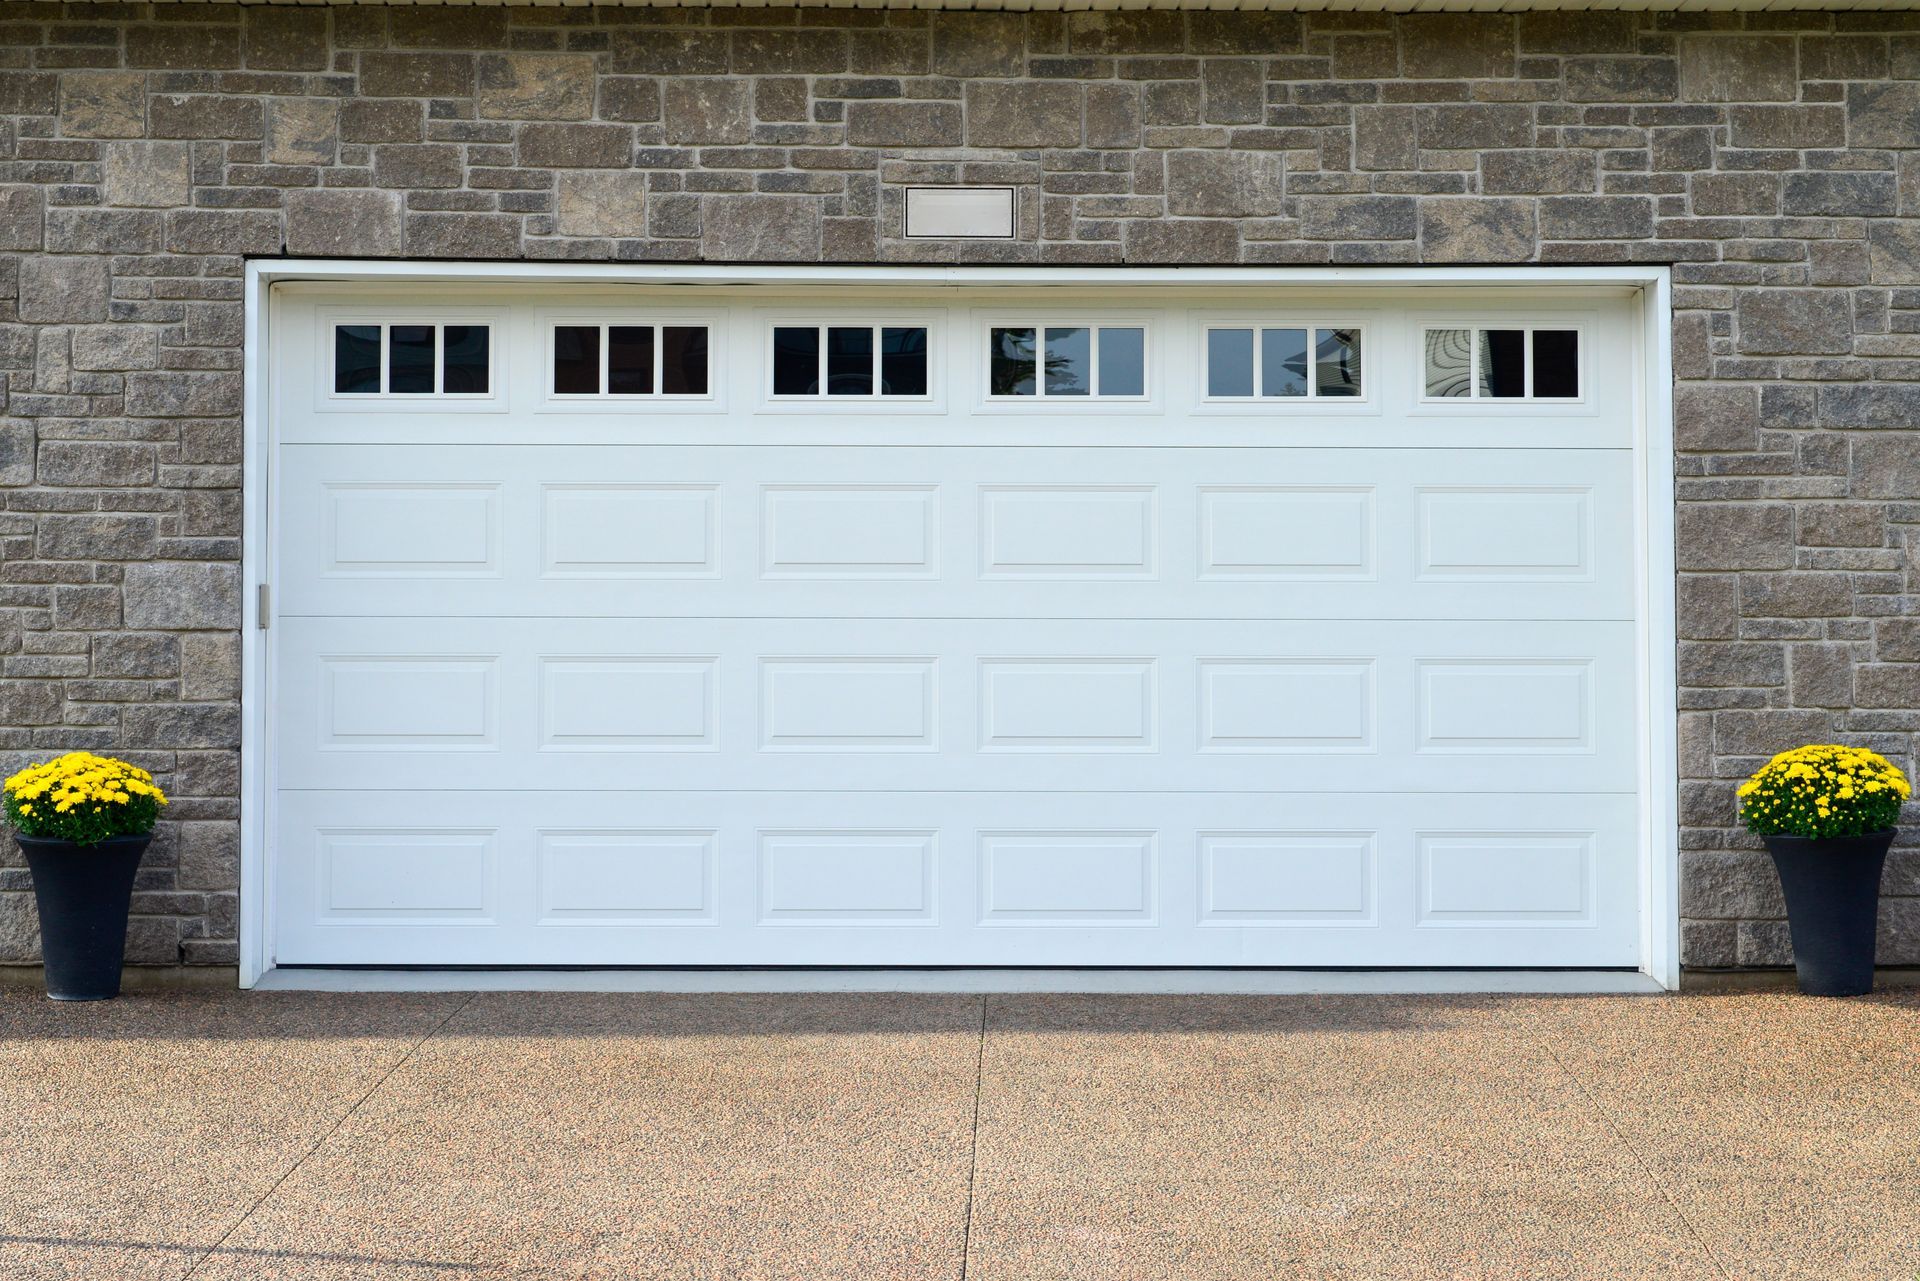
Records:
M21 835L40 906L40 958L54 1001L106 1001L119 995L127 958L127 905L132 874L152 835L113 835L98 845Z

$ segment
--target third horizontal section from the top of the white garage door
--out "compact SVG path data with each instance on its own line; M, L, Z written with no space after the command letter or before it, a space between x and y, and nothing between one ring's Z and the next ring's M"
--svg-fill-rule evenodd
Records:
M282 630L280 753L313 787L1634 789L1619 622Z

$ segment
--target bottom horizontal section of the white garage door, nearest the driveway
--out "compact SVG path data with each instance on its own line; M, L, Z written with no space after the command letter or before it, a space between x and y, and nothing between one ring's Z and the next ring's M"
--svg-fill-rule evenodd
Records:
M1628 797L300 791L278 822L296 964L1632 964L1638 937Z

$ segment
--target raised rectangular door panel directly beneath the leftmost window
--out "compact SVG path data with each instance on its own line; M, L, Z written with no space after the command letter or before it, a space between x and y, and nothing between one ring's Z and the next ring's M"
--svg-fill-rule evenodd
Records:
M323 572L463 578L499 572L499 486L323 486Z

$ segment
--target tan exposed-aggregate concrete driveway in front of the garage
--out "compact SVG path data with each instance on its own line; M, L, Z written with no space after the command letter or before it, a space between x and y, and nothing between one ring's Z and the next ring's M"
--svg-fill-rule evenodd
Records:
M0 1275L1920 1273L1920 997L0 993Z

